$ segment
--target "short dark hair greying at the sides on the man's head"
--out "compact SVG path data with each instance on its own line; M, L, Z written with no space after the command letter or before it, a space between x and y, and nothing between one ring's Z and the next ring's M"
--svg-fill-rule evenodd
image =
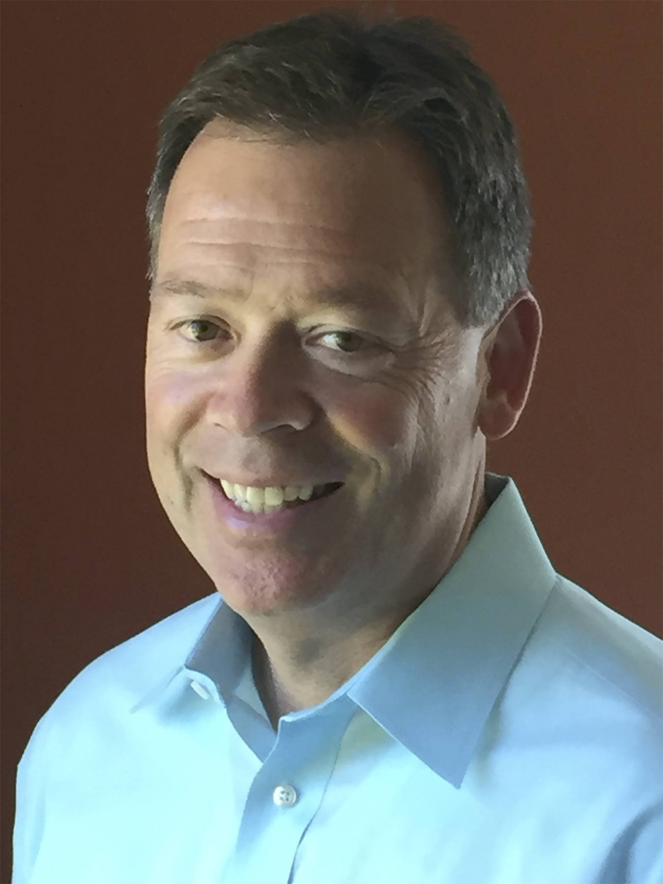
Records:
M213 119L291 143L398 127L438 174L461 323L492 324L529 288L530 195L514 125L491 78L446 25L322 11L214 50L160 122L147 204L150 273L172 177Z

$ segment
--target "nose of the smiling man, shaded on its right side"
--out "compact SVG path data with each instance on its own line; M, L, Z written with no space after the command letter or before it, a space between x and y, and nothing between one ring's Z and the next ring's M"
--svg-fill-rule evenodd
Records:
M305 430L316 404L302 386L301 356L293 341L242 342L218 363L208 403L211 423L247 437L279 427Z

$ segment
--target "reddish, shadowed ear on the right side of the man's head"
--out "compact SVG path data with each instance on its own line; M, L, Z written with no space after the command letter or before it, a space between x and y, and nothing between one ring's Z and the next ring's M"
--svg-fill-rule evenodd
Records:
M537 364L542 317L531 292L514 294L482 342L484 389L477 427L487 439L507 436L525 408Z

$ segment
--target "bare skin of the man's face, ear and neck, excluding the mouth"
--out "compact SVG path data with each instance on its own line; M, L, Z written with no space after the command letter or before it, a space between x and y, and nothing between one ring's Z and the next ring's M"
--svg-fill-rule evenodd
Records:
M527 400L541 314L518 292L491 327L461 327L436 179L399 133L230 134L203 130L166 200L147 448L173 527L255 634L276 727L361 668L461 554L486 511L486 439ZM220 519L201 470L344 486L297 530L252 534Z

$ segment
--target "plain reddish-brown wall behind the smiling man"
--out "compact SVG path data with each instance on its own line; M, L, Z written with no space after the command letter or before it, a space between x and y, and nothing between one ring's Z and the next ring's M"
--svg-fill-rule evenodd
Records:
M144 455L156 119L217 42L320 5L3 4L2 881L37 719L90 660L214 589ZM461 30L521 134L544 338L489 469L514 476L560 573L661 635L661 5L393 5Z

